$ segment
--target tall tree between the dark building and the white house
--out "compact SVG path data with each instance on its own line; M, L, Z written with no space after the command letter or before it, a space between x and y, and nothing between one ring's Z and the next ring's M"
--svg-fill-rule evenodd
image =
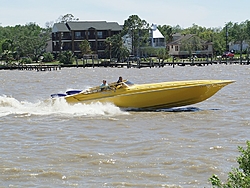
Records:
M132 39L132 54L139 55L140 48L148 44L149 24L137 15L131 15L124 21L122 34L128 34Z

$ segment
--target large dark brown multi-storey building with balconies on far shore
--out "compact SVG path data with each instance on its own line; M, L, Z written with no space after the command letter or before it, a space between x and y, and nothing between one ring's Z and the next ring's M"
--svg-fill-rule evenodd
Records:
M72 51L80 56L79 48L83 40L87 40L91 50L99 58L105 57L105 40L120 33L122 27L116 22L106 21L74 21L55 23L52 28L52 52L57 55L61 51Z

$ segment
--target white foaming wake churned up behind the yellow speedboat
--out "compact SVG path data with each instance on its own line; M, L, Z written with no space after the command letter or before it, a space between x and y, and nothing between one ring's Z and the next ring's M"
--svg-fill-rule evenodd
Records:
M44 101L19 101L13 97L0 96L0 117L8 115L55 115L55 116L116 116L127 115L126 111L113 104L99 102L91 104L68 104L63 98L47 99Z

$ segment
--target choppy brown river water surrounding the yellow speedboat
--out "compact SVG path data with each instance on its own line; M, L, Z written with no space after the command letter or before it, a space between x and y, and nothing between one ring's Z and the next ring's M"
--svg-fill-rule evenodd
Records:
M250 139L250 66L0 71L0 187L211 187ZM236 80L206 101L156 111L75 104L53 93L134 83Z

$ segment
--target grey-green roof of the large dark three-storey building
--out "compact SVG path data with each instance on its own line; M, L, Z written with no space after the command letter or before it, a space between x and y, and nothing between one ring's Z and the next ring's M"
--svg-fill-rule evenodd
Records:
M89 28L94 28L96 30L112 30L112 31L122 30L122 27L117 22L106 22L106 21L77 21L77 22L67 22L67 23L55 23L54 27L57 29L56 31L61 31L61 32L69 30L73 31L88 30Z

